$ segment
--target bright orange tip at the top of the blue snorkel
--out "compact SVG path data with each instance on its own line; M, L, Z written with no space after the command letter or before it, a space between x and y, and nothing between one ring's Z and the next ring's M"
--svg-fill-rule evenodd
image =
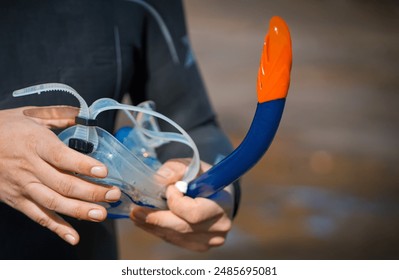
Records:
M274 16L263 42L257 92L258 102L285 98L290 85L292 65L291 36L285 21Z

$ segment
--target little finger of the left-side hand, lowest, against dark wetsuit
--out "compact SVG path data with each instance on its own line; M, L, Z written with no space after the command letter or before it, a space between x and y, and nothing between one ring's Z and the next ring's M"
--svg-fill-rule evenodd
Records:
M77 231L56 213L39 207L30 200L24 200L17 209L36 223L56 233L69 244L76 245L79 243Z

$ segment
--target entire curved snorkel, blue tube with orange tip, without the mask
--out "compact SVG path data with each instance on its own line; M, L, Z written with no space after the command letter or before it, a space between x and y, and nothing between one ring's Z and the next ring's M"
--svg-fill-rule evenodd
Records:
M291 37L280 17L270 20L258 71L258 105L242 143L221 162L187 186L190 197L209 197L251 169L266 153L277 132L290 83Z

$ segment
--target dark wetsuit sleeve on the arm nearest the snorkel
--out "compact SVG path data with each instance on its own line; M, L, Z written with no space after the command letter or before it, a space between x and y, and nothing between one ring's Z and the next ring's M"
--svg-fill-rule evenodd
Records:
M162 21L148 13L145 21L145 79L143 100L153 100L157 111L181 125L193 138L201 160L214 164L232 151L232 146L216 122L187 35L181 1L146 1ZM162 32L166 29L170 34ZM172 47L171 47L172 46ZM135 101L142 101L132 98ZM192 152L181 145L159 151L162 158L187 157ZM239 184L235 184L237 209ZM236 212L236 211L235 211Z

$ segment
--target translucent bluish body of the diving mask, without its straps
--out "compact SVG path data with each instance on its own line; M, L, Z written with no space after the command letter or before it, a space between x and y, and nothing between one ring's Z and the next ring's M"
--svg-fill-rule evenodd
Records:
M74 135L75 127L64 130L58 136L64 143ZM96 127L98 146L89 156L101 161L108 168L106 178L78 175L86 180L107 186L117 186L122 197L115 203L102 203L110 218L126 218L132 206L166 209L164 199L166 180L156 170L147 166L110 133Z

